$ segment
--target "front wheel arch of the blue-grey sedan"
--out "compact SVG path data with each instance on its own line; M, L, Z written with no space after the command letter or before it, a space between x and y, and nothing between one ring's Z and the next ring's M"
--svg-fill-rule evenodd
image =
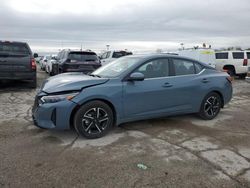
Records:
M85 105L86 103L88 102L91 102L91 101L102 101L104 103L106 103L112 110L113 112L113 115L114 115L114 125L116 125L117 123L117 111L114 107L114 105L112 104L112 102L110 102L109 100L107 99L102 99L102 98L94 98L94 99L90 99L90 100L87 100L85 101L84 103L82 103L81 105L77 105L71 112L70 114L70 129L74 129L74 116L76 114L76 112L79 110L79 108L83 105Z

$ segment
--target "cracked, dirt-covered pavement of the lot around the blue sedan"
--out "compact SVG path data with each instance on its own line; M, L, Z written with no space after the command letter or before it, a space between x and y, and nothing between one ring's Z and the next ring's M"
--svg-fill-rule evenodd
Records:
M38 71L40 84L46 77ZM232 101L214 120L139 121L96 140L35 127L36 90L26 84L0 84L0 187L250 187L244 80L234 81Z

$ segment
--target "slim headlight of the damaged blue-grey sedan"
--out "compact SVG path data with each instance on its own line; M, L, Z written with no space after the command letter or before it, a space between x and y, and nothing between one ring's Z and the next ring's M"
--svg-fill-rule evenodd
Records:
M59 102L63 100L71 100L78 94L79 92L68 93L68 94L63 94L63 95L47 95L47 96L43 96L40 100L42 103L55 103L55 102Z

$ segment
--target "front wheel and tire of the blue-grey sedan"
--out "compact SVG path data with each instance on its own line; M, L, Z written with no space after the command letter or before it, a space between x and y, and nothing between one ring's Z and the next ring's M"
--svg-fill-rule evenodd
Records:
M113 123L112 109L106 103L98 100L84 104L74 116L75 130L89 139L106 135Z

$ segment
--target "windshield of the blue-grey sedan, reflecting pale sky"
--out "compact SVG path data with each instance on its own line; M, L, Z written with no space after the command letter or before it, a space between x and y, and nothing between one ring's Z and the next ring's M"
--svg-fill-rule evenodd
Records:
M139 60L139 57L123 57L97 69L95 72L92 73L92 75L97 75L106 78L115 78L120 76L130 67L137 64Z

